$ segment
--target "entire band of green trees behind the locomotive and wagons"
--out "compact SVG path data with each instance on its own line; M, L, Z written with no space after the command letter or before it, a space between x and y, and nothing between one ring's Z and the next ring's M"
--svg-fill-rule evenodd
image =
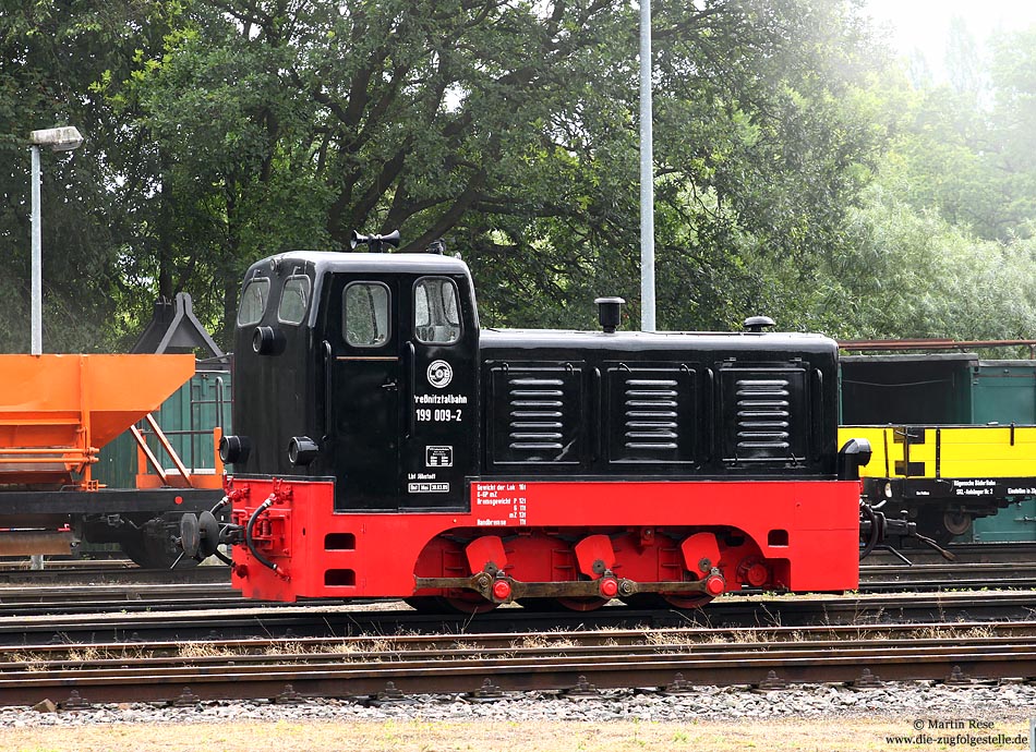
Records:
M658 323L1028 336L1036 38L913 87L856 0L653 3ZM15 0L0 15L0 350L24 350L33 128L48 350L125 349L190 292L400 228L491 326L639 319L638 14L610 0Z

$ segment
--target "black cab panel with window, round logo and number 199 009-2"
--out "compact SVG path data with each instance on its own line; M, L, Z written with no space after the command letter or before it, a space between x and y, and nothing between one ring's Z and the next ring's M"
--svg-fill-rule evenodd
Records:
M473 470L479 328L463 276L413 280L410 330L403 344L407 381L401 505L462 509Z

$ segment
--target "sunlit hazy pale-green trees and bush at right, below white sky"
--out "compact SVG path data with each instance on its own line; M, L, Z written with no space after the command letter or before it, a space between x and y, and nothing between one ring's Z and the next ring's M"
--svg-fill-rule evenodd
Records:
M887 149L845 242L808 298L810 326L843 337L1028 339L1036 332L1032 158L1036 36L1002 36L993 65L952 32L953 85L890 72L871 98Z

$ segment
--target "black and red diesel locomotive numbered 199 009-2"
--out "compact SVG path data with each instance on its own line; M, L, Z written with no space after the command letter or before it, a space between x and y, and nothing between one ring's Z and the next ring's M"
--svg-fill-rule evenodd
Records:
M869 450L838 444L833 340L622 331L619 299L600 330L483 329L435 250L249 269L230 522L185 516L189 556L230 544L252 598L467 612L856 587Z

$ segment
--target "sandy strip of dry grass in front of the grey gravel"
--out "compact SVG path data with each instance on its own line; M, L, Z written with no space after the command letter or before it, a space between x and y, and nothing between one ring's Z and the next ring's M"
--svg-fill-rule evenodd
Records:
M939 735L1008 738L1028 736L1025 719L993 719L979 731L925 731ZM920 723L920 721L917 721ZM877 750L1020 750L973 739L939 743L917 739L911 718L824 718L696 721L351 721L323 720L228 724L97 725L4 729L0 750L16 752L875 752Z

